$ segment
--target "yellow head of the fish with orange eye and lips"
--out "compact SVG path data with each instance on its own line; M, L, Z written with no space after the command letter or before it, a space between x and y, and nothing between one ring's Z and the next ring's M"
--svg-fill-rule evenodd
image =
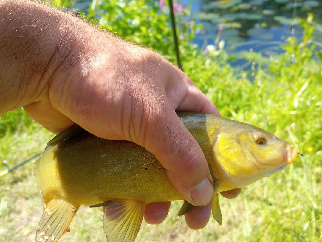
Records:
M233 121L217 134L213 153L220 180L243 187L284 169L298 151L263 129Z

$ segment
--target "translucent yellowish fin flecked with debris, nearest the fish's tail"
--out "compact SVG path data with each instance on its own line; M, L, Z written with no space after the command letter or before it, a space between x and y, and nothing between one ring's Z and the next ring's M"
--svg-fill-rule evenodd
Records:
M52 199L43 211L36 233L37 242L58 241L66 232L78 207L63 199Z

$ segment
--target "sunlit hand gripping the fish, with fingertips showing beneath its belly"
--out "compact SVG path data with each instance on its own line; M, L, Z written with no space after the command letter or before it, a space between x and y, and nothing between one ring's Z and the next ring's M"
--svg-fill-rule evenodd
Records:
M26 112L55 133L75 122L97 136L146 147L166 167L170 181L186 200L206 205L213 196L208 165L174 110L219 115L217 109L160 55L126 42L120 46L114 58L106 55L106 48L96 50L86 67L91 71L85 75L71 70L68 76L57 74L49 87L51 99L43 96L25 106ZM193 194L194 187L206 178L208 187ZM169 207L169 203L149 204L146 221L162 222ZM204 227L210 212L210 205L195 209L185 216L187 225Z

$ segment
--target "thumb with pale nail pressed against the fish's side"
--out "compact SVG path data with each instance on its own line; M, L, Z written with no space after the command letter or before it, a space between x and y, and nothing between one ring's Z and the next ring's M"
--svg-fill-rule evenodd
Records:
M150 122L144 146L166 168L170 182L184 199L204 206L213 197L213 179L204 153L171 107L162 114Z

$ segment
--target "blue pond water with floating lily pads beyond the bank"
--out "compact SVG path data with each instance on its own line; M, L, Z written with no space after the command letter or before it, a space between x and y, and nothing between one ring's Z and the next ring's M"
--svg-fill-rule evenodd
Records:
M223 39L225 49L237 58L233 65L244 65L250 49L262 56L280 53L287 37L301 36L294 19L306 18L309 12L317 23L315 44L322 47L322 0L183 0L183 4L191 4L192 16L203 25L194 43L204 48Z

